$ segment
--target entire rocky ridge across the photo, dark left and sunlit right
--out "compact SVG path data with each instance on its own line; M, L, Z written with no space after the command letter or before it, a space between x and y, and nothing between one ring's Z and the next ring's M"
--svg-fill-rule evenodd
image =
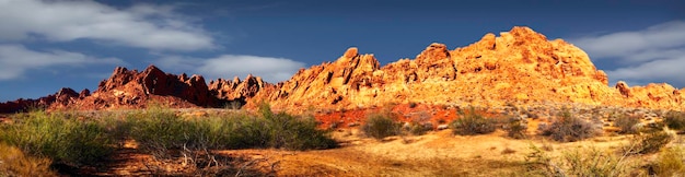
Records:
M685 109L683 90L665 83L634 87L625 82L607 84L607 75L580 48L516 26L499 36L486 34L479 42L453 50L434 43L414 59L385 66L352 47L337 60L301 69L276 85L253 75L207 84L201 75L174 75L154 66L142 72L116 68L90 96L85 92L77 97L65 91L57 95L70 96L54 96L54 101L42 104L50 108L113 109L144 107L149 101L172 107L223 107L237 102L254 108L266 101L276 108L298 111L388 103L478 107L566 103ZM9 102L0 108L15 111L16 105L28 105L26 102Z

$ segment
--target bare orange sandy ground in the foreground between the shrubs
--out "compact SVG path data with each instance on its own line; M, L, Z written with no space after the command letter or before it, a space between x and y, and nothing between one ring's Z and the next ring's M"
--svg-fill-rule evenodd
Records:
M243 164L276 176L512 176L525 170L524 157L532 152L532 145L546 149L549 155L555 156L579 148L612 151L629 140L626 135L597 137L570 143L542 138L514 140L500 130L491 134L465 137L441 130L379 141L364 138L357 129L339 129L334 137L341 142L341 148L316 151L225 150L216 153L244 158ZM683 138L680 139L677 143L683 143ZM118 163L98 175L146 175L150 173L147 166L153 163L151 156L137 154L132 149L124 150L119 157Z

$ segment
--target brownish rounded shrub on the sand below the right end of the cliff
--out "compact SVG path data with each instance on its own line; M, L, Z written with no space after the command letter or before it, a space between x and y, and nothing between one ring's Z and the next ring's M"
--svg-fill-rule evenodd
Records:
M565 110L543 129L542 134L560 142L573 142L594 137L597 130L589 121L573 117Z

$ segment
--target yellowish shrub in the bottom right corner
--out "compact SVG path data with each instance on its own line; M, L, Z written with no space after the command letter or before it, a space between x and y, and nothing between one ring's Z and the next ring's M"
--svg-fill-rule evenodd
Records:
M658 176L685 174L685 149L682 146L663 149L653 165Z

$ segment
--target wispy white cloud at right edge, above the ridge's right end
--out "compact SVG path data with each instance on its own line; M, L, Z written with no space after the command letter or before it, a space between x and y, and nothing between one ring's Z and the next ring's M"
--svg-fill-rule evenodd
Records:
M685 86L685 21L657 24L640 31L616 32L570 39L593 60L619 66L606 73L613 82L667 82Z

